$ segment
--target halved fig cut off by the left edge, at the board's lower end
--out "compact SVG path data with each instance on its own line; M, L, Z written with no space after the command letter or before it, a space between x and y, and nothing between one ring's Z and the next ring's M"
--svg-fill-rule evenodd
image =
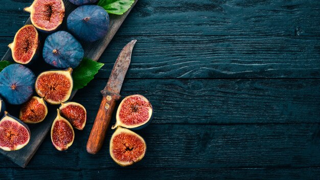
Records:
M29 127L5 111L0 121L0 148L13 151L25 147L30 140Z

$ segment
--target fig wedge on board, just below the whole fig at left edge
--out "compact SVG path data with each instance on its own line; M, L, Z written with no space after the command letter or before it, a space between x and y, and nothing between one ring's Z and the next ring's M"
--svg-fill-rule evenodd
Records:
M19 119L25 123L35 124L44 120L48 114L48 107L43 98L33 96L22 104Z

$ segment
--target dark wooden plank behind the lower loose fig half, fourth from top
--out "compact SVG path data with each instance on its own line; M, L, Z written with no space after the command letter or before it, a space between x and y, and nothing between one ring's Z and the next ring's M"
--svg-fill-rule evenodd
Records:
M92 125L76 131L67 151L56 150L48 136L29 168L119 168L106 143L98 154L86 152ZM179 125L151 124L139 133L147 143L144 159L129 168L301 168L319 167L320 124ZM2 167L16 167L0 157Z

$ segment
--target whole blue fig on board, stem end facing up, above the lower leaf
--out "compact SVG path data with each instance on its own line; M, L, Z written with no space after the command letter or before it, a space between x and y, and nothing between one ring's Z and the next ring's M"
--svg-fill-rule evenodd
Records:
M70 33L55 32L44 42L42 56L45 62L58 69L76 68L84 55L81 44Z

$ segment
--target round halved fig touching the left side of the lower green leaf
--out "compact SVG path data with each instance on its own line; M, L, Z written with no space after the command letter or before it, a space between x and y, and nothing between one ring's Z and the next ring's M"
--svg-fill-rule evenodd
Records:
M46 102L48 102L49 104L60 104L61 102L66 102L72 93L72 88L73 88L73 79L71 76L72 73L72 68L68 68L67 70L51 70L51 71L45 71L42 72L41 74L39 74L39 76L37 77L37 80L35 82L35 89L37 94L43 98ZM50 76L51 74L51 76ZM69 82L69 84L57 84L57 80L54 81L52 77L53 74L56 74L60 77L66 78ZM47 77L45 77L47 76ZM48 77L49 76L49 77ZM43 82L42 81L47 80L49 82ZM66 81L66 80L65 80ZM63 81L63 82L65 82ZM56 92L56 93L63 93L65 94L63 97L61 97L62 99L57 98L57 100L53 99L53 97L48 97L48 96L54 96L52 89L47 89L47 91L50 91L50 93L46 93L44 92L45 89L41 89L42 88L55 88L55 89L59 89L61 90L60 92ZM61 89L63 88L63 89ZM66 89L64 89L66 88ZM64 90L64 92L62 92L62 90Z

